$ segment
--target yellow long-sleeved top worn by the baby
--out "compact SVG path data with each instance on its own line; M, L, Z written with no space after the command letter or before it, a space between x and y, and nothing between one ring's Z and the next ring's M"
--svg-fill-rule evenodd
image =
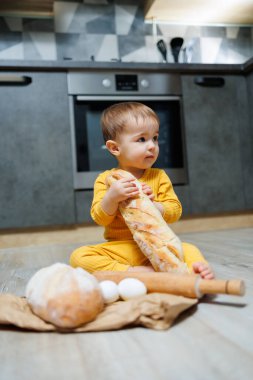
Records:
M108 215L101 207L101 201L107 191L105 180L112 170L115 169L101 173L95 181L91 216L97 224L105 227L104 237L106 240L132 240L132 234L119 210L114 215ZM151 187L155 202L162 203L165 221L167 223L176 222L182 214L182 206L165 171L146 169L139 181Z

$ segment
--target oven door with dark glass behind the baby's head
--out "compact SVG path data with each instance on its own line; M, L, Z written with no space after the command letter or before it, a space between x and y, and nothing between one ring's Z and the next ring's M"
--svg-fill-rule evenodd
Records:
M70 96L74 188L92 189L99 173L117 166L107 151L100 127L103 110L123 101L151 107L160 119L159 158L173 184L187 183L184 129L180 96Z

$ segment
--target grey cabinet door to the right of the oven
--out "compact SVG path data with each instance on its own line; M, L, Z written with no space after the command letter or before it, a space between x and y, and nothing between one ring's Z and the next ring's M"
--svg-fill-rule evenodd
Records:
M210 76L209 76L210 77ZM223 87L183 76L184 119L192 213L245 209L241 162L244 77L224 76Z

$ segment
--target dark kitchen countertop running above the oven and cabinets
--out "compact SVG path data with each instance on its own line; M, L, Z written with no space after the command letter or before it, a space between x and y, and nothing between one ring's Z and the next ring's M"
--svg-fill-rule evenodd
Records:
M141 62L88 62L88 61L25 61L0 60L1 70L69 71L69 70L135 70L160 71L180 74L247 74L253 70L253 58L244 64L198 64L198 63L141 63Z

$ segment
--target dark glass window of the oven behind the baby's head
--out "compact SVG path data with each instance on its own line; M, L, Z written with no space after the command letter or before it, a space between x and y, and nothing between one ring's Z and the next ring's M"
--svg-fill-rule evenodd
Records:
M160 153L154 167L182 168L184 157L180 101L141 102L151 107L160 120ZM100 127L103 110L114 103L109 101L77 101L75 99L75 138L78 172L104 171L116 166L116 159L105 148Z

